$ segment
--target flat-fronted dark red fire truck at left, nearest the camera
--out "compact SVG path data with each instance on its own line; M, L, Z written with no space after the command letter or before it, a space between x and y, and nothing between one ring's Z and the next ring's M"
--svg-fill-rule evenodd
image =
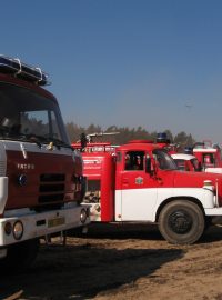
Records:
M0 264L29 264L40 237L89 223L82 158L48 76L0 56Z

